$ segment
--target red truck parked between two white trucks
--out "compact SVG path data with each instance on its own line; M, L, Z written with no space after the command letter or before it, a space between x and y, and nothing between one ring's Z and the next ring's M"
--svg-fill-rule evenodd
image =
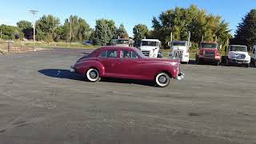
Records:
M196 62L198 64L204 63L215 63L217 66L221 62L221 55L218 53L217 42L201 42L197 54Z

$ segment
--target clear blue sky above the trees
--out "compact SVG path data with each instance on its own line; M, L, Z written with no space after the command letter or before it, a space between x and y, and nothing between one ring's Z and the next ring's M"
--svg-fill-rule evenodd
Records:
M153 17L175 6L191 4L206 10L207 14L222 16L229 23L232 34L246 13L256 8L255 0L1 0L0 25L15 26L20 20L33 22L43 14L53 14L63 23L73 14L84 18L93 28L97 19L113 19L116 26L123 23L128 34L133 36L133 27L138 23L151 28ZM30 10L38 10L36 18Z

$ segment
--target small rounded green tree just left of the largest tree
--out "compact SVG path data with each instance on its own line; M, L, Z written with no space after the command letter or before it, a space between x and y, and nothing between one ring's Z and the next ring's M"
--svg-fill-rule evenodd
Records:
M150 36L150 30L147 28L146 25L138 24L134 26L134 41L140 41L144 37Z

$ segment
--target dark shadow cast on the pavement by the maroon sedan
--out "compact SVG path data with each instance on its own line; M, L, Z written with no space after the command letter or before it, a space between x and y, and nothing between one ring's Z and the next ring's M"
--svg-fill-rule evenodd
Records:
M38 70L40 74L44 74L52 78L66 78L77 81L86 81L86 78L82 74L71 73L70 70L62 69L44 69ZM122 78L102 78L101 82L115 82L115 83L127 83L127 84L138 84L143 86L154 86L154 82L135 80L135 79L122 79Z

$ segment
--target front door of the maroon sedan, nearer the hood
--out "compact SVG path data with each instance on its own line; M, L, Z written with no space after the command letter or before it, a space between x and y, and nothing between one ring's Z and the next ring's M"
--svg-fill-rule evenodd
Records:
M134 50L120 50L120 58L118 58L118 64L116 65L119 77L142 78L142 75L138 73L141 66L142 60Z

